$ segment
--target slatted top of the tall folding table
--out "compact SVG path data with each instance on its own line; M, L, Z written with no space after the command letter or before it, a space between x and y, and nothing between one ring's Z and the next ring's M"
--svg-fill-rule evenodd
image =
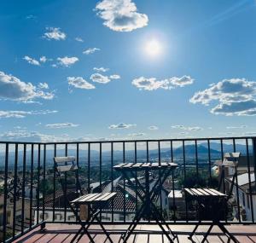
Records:
M172 162L161 162L161 163L121 163L114 165L113 169L116 171L146 171L146 170L161 170L167 168L175 169L177 164Z

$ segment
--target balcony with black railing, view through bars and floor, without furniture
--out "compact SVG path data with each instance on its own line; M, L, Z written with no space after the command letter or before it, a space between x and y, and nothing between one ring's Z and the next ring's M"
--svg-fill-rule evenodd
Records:
M211 187L229 193L233 171L225 171L224 182L219 185L219 160L226 152L240 152L241 159L224 222L237 240L254 242L256 137L249 136L100 142L0 142L1 240L69 242L79 225L64 200L53 157L73 155L78 161L79 180L84 190L90 193L117 193L116 199L100 214L101 221L115 242L119 242L120 234L136 215L141 201L137 187L131 188L119 172L113 170L113 165L123 162L177 163L177 169L167 177L155 204L177 232L179 242L191 242L187 236L199 218L195 207L187 205L183 188ZM138 173L137 178L144 182L143 173ZM152 173L149 182L154 182L154 178ZM65 180L67 185L75 184L72 176L66 176ZM67 189L66 193L73 194L76 190L78 188ZM45 227L44 231L40 231L42 227ZM201 240L206 231L207 226L201 226L196 239ZM96 224L91 232L96 235L96 242L105 240ZM80 242L89 242L87 236L83 237ZM210 242L227 240L218 229L213 230L209 237L211 239ZM155 240L167 242L154 221L141 221L136 234L130 239L131 242Z

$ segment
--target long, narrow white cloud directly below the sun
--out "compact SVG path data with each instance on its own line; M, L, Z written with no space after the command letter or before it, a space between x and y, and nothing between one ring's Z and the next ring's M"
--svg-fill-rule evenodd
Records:
M162 80L157 80L156 78L135 78L132 80L131 84L136 86L139 90L171 90L176 87L183 87L185 85L193 84L194 79L189 76L183 76L181 78L172 77Z

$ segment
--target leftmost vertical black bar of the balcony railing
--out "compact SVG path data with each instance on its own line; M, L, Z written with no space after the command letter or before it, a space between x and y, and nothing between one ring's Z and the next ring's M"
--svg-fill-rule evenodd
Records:
M8 164L9 164L9 143L6 143L5 144L5 162L4 162L3 242L5 242L5 238L6 238L6 224L7 224Z

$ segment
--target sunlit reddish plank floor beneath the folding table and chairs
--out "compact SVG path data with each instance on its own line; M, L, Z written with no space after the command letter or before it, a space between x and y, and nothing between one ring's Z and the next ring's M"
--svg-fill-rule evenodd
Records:
M120 240L120 232L124 232L126 226L112 225L106 227L111 232L113 242L122 242ZM186 243L191 242L188 239L188 234L194 228L193 225L171 225L171 229L178 234L178 240L175 242ZM41 232L40 229L34 229L32 232L25 234L20 239L15 240L15 243L68 243L73 238L76 230L79 229L78 225L68 224L47 224L46 230ZM227 226L227 229L232 232L236 239L241 243L256 243L256 225L232 225ZM95 226L91 228L94 232L93 237L96 243L108 242L106 236L102 231ZM201 242L203 234L207 231L207 226L201 226L194 237L194 242ZM80 243L89 243L90 240L84 235ZM132 234L128 240L129 243L166 243L168 242L166 236L161 234L158 226L154 225L139 225L137 226L136 234ZM224 243L228 239L220 233L216 228L213 229L212 234L208 237L209 243ZM231 242L231 241L230 241Z

